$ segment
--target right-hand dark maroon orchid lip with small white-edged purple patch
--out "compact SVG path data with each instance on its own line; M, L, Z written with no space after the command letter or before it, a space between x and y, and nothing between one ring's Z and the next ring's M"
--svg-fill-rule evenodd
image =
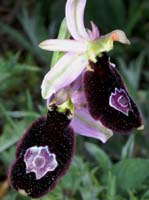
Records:
M136 104L128 94L124 81L106 54L90 62L91 70L83 76L83 87L93 118L120 133L128 133L142 125Z

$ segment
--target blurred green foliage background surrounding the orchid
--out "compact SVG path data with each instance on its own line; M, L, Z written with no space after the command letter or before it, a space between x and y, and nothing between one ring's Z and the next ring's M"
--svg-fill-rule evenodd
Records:
M27 200L8 186L15 146L33 120L45 115L40 95L52 54L38 48L56 38L65 0L0 1L0 200ZM111 61L123 75L144 120L143 131L115 134L106 144L77 136L67 175L42 200L149 200L149 1L87 0L86 26L101 34L122 29L130 46L115 44Z

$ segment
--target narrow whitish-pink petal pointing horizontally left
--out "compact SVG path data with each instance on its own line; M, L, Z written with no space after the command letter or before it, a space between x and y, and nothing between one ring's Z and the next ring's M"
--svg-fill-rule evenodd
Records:
M39 47L48 51L63 51L63 52L75 52L75 53L83 53L87 49L87 46L84 42L68 40L68 39L45 40L39 44Z

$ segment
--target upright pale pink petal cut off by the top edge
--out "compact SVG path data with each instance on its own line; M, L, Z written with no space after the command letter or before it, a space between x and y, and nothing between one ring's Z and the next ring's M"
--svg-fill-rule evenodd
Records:
M66 21L69 32L75 40L90 40L84 26L86 0L67 0Z

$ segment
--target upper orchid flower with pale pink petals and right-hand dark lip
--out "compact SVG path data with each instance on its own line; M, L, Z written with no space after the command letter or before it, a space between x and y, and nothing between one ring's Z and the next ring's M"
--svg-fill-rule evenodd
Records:
M105 55L113 49L114 41L130 42L121 30L100 35L94 22L91 30L85 28L85 5L86 0L67 0L66 22L73 39L49 39L39 45L65 52L45 75L41 92L48 105L71 100L74 131L106 142L112 130L127 133L142 127L142 120L115 65ZM79 89L72 87L75 82L79 82ZM78 96L77 102L74 96Z

